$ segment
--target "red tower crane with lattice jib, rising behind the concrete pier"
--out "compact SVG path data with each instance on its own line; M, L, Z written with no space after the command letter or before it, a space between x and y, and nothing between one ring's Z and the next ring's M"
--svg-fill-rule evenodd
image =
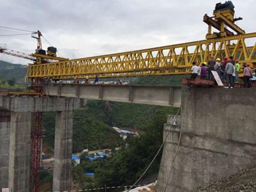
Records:
M37 49L33 54L22 53L7 49L6 45L0 44L0 53L13 55L24 59L29 59L37 64L52 62L53 60L63 61L68 60L66 58L59 58L56 56L56 52L47 51L42 49L42 33L37 30L31 32L31 37L37 39ZM54 48L54 47L53 47ZM31 80L31 85L34 92L42 92L42 78L34 78ZM30 192L39 192L40 181L40 164L41 164L41 145L42 145L42 112L34 111L33 115L33 128L31 131L31 160L30 160Z

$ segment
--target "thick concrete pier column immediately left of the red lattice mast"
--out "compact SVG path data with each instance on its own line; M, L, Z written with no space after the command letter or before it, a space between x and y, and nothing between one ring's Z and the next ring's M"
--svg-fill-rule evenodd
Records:
M11 112L9 190L29 191L31 113Z

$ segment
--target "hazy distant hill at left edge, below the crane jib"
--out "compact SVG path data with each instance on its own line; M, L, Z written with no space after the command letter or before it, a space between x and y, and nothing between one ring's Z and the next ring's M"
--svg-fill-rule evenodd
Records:
M16 82L24 83L24 77L27 73L27 66L21 64L13 64L0 60L0 78L15 78Z

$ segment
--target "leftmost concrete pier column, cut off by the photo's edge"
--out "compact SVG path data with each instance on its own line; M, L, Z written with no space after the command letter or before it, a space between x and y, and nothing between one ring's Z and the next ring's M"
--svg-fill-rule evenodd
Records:
M0 110L0 191L8 188L10 113Z

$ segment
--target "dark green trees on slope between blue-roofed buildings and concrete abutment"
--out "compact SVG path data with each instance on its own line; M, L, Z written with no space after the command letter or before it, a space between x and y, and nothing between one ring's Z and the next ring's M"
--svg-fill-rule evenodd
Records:
M134 111L140 109L143 107L134 106ZM80 165L74 167L73 179L81 188L103 187L105 184L106 186L131 185L140 177L161 146L163 124L167 115L176 113L177 108L157 107L151 110L154 113L150 115L151 121L145 122L147 124L143 127L145 133L139 137L127 138L126 149L117 151L112 158L97 162L82 161ZM146 116L147 113L142 115L142 118ZM132 117L132 114L127 116L131 120ZM161 156L158 155L146 176L158 172ZM83 176L85 172L94 172L93 183L88 182Z

